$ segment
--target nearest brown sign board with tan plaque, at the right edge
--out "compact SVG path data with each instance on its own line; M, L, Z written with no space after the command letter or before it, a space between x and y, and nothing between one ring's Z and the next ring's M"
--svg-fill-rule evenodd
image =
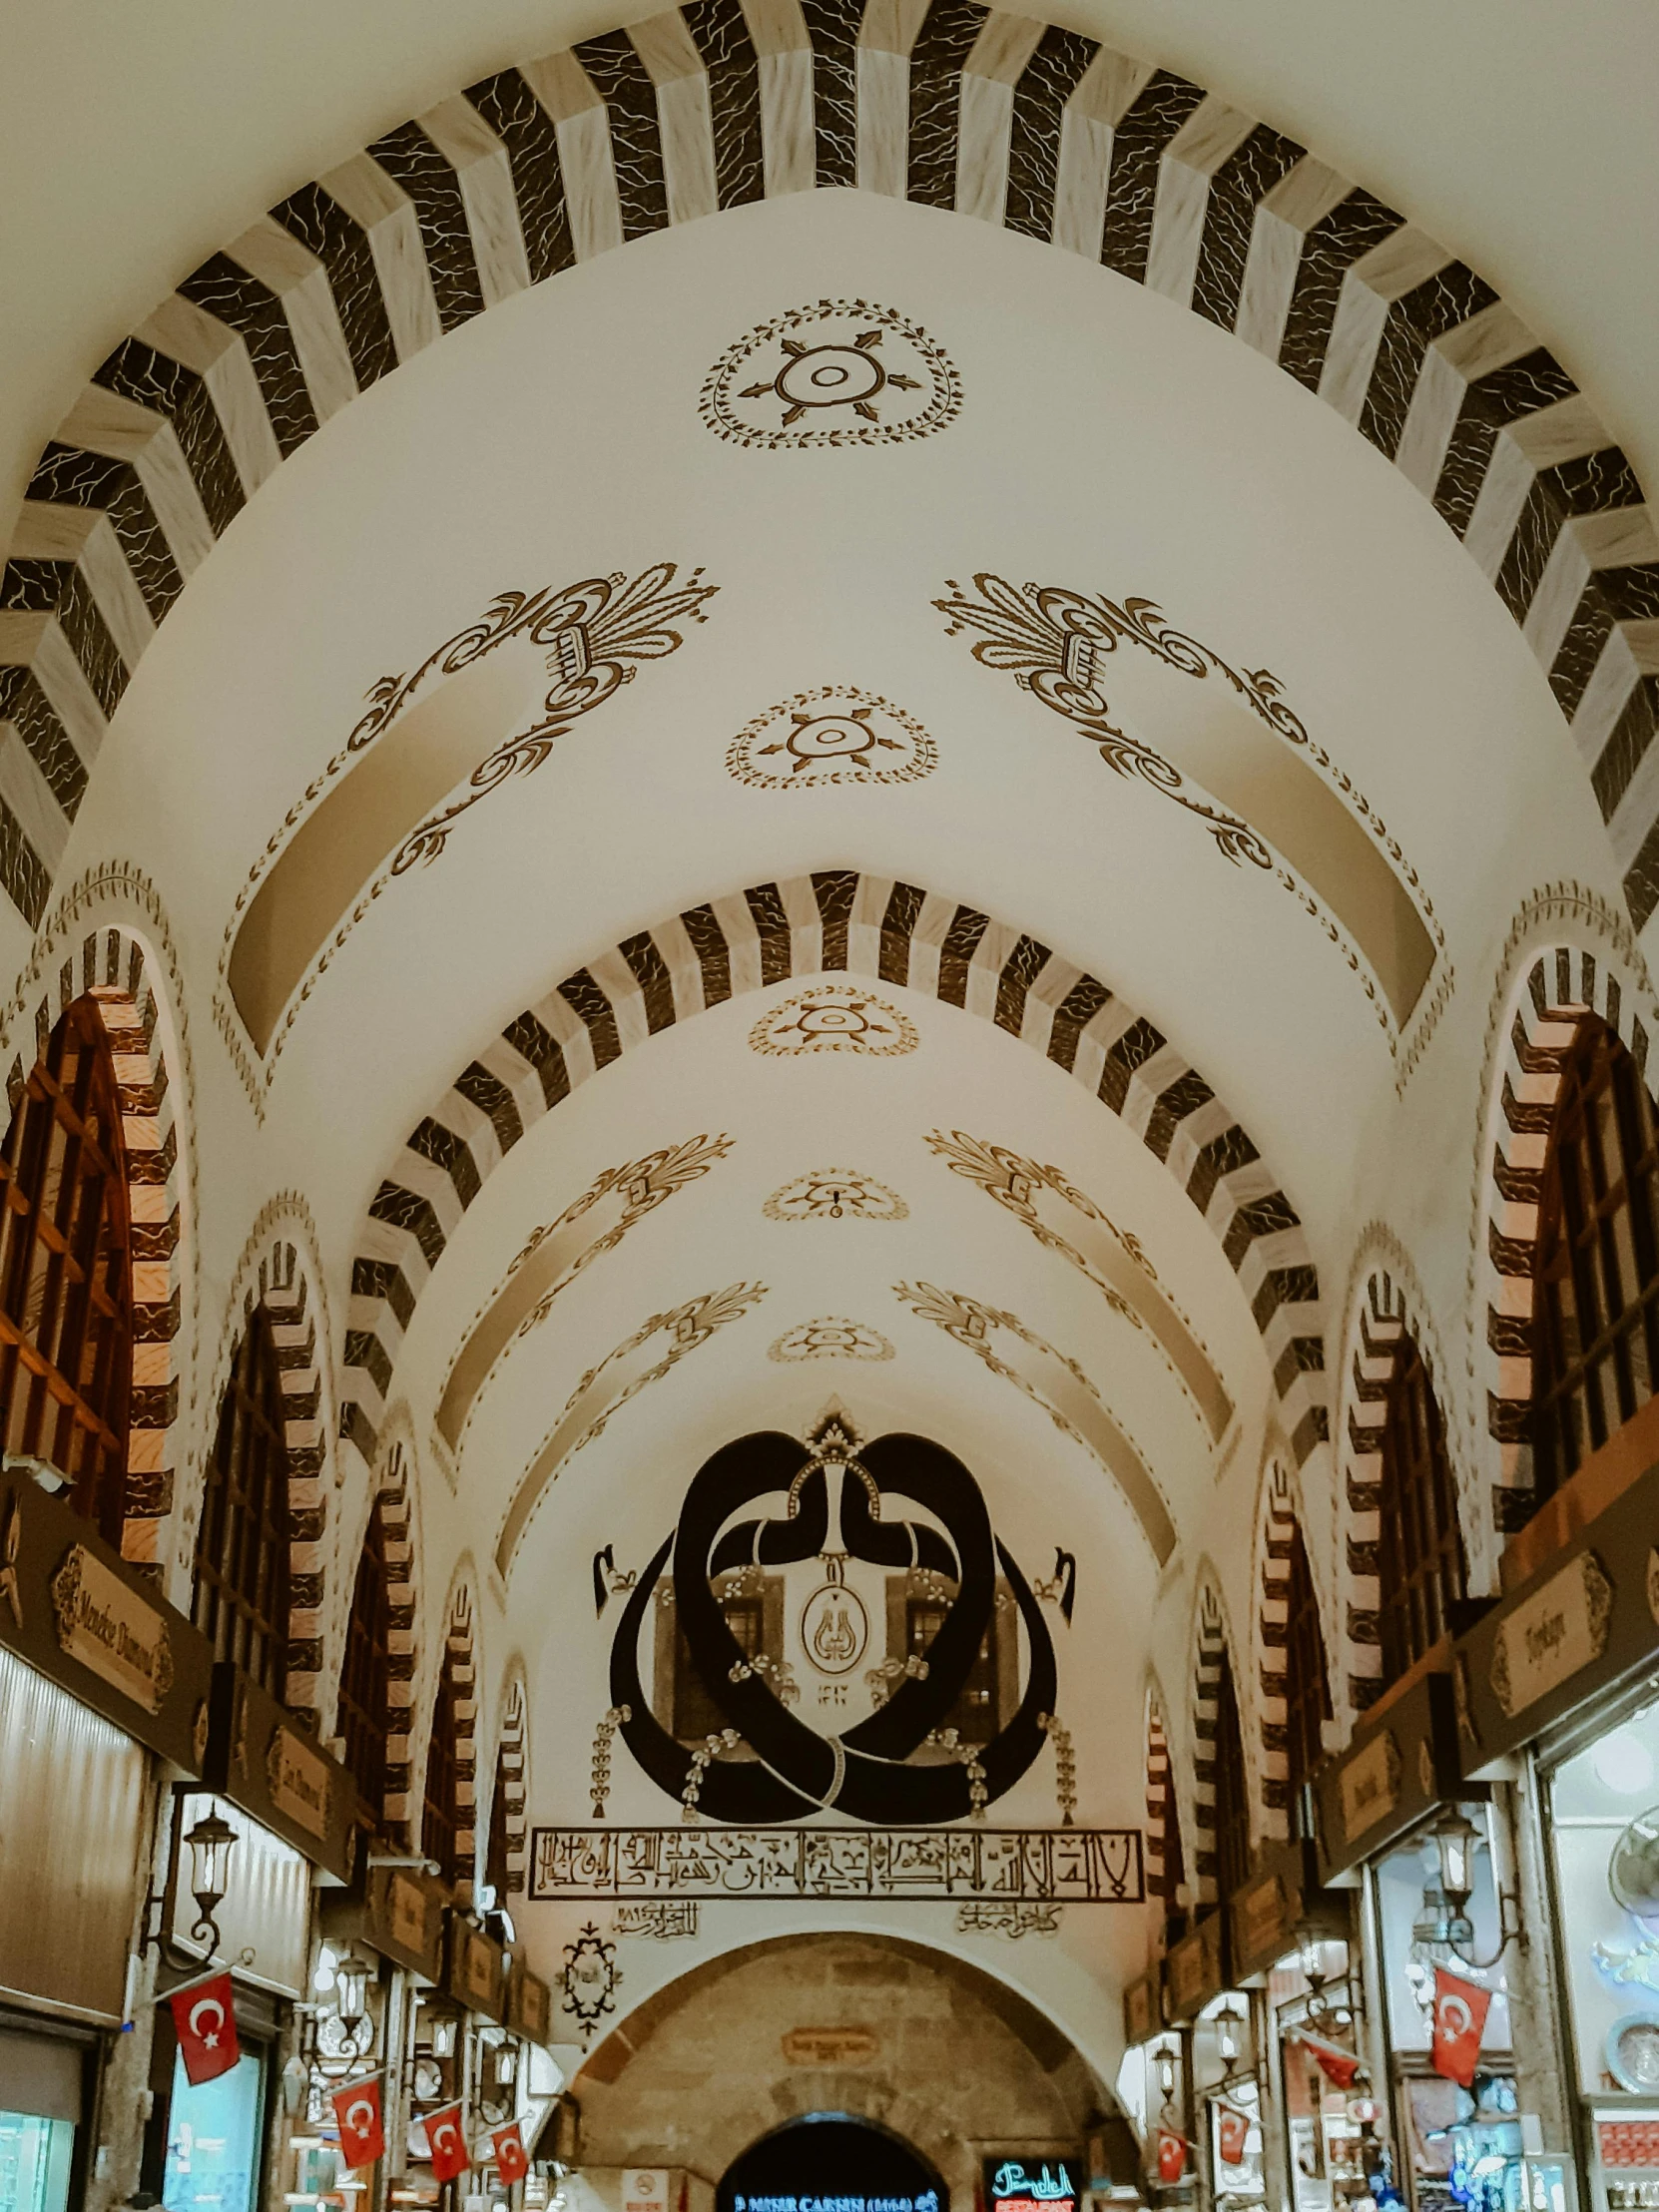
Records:
M1464 1774L1486 1778L1588 1697L1659 1655L1659 1467L1453 1648Z

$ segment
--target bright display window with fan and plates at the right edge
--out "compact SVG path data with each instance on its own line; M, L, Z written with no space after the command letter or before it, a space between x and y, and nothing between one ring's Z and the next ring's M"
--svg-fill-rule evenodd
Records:
M1595 2194L1659 2205L1659 1703L1559 1765L1551 1801Z

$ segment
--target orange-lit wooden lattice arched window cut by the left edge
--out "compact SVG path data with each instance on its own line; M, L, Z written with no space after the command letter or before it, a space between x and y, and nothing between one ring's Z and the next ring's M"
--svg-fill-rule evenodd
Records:
M104 1018L77 998L29 1071L0 1155L0 1436L49 1460L122 1540L133 1389L126 1146Z

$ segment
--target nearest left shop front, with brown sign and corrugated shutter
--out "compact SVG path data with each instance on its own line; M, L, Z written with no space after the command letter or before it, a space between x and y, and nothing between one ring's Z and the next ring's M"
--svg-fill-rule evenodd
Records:
M24 1462L0 1473L0 2201L93 2157L146 1898L155 1759L201 1774L212 1650ZM168 1803L166 1798L161 1801Z

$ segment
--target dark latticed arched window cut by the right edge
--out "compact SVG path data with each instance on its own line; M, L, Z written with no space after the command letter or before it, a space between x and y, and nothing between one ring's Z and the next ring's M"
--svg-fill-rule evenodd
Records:
M1586 1018L1555 1099L1533 1252L1533 1493L1551 1498L1655 1396L1659 1121L1617 1035Z

